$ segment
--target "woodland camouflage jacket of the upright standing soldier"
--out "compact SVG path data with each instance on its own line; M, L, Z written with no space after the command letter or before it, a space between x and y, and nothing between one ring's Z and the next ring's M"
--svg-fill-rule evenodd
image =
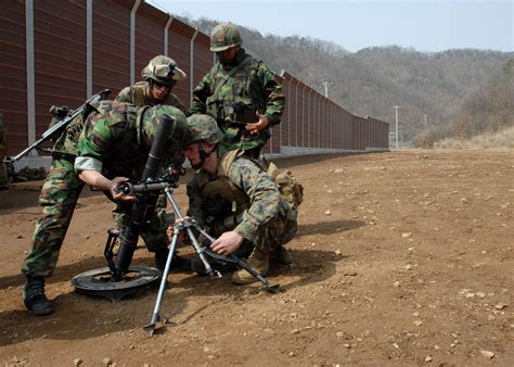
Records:
M229 76L234 68L235 72ZM270 137L270 128L280 123L284 107L285 97L273 72L241 49L234 63L222 65L217 62L202 78L193 91L190 113L206 113L216 118L223 132L222 143L227 150L249 150L265 145ZM239 114L237 110L245 111ZM255 116L255 111L265 114L269 125L250 135L244 125L257 122L257 117L249 121L248 117L239 116Z

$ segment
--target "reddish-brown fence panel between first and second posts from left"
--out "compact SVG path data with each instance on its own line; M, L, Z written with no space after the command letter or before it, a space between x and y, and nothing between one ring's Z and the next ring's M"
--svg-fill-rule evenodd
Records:
M34 2L36 138L47 130L51 104L76 107L86 96L86 3Z

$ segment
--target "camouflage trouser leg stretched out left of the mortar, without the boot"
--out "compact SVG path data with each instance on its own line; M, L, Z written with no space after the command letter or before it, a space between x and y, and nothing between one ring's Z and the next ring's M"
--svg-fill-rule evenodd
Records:
M34 231L31 250L22 265L25 276L52 275L83 186L75 173L73 162L57 159L52 161L39 194L42 216Z

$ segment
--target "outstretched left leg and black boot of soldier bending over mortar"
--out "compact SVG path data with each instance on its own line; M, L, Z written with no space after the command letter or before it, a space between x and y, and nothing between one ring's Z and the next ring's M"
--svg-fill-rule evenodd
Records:
M22 273L26 283L23 292L25 306L33 315L53 312L44 295L44 278L50 277L56 266L59 252L69 227L83 182L74 168L77 141L83 118L93 110L86 109L82 115L72 121L53 145L52 164L39 194L42 216L39 218ZM66 111L54 111L52 124L66 116Z

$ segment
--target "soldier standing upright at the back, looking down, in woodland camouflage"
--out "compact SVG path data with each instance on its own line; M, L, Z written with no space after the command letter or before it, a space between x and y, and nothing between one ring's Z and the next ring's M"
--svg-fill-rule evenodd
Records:
M213 29L210 50L219 61L194 89L190 113L208 114L217 121L223 149L241 148L259 159L270 128L280 123L285 98L273 72L241 45L233 24L221 23Z

